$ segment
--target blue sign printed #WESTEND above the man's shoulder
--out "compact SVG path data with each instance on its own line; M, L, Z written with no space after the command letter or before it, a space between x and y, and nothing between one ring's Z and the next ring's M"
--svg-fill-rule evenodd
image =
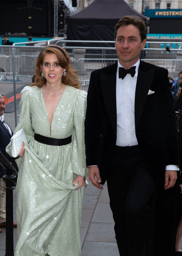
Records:
M182 9L145 9L149 18L182 18Z

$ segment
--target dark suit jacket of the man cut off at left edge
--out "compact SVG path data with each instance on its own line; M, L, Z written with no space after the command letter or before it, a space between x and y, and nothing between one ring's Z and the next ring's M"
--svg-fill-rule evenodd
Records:
M13 132L12 132L13 134ZM6 127L3 125L3 123L0 121L0 152L8 159L9 162L12 163L12 165L15 167L15 169L18 172L18 167L16 165L15 159L13 157L10 157L6 153L6 146L10 143L11 134L6 129ZM0 165L0 178L5 175L6 172L4 171L3 166Z

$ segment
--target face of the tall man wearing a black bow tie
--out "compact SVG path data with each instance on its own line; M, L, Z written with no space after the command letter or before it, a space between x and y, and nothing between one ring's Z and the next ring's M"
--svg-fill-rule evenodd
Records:
M139 29L136 26L120 26L115 38L115 48L120 64L125 68L133 66L139 60L145 44L146 39L141 42Z

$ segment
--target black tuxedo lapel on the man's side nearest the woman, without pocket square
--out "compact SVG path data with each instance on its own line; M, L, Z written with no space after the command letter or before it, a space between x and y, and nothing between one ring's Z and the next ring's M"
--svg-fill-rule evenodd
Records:
M117 66L116 66L117 68ZM107 109L107 113L110 117L110 121L116 135L116 69L111 75L106 75L104 73L100 74L102 94L104 97L104 103Z

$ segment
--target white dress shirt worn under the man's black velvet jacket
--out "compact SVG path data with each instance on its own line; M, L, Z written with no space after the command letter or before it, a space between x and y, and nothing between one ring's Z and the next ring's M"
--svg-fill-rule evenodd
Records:
M138 67L140 60L133 66L136 66L134 77L127 74L124 79L119 78L119 67L122 67L118 60L116 74L116 108L117 108L117 139L116 145L120 147L137 145L135 132L135 91L136 80L138 76ZM166 170L179 170L178 166L168 165Z

